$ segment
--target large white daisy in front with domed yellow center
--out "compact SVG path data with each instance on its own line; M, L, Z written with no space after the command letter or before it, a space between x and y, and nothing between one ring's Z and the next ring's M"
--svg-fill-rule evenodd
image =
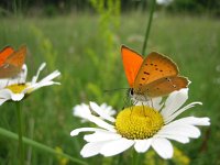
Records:
M200 136L198 125L210 125L209 118L186 117L174 120L189 108L201 105L201 102L191 102L183 107L187 99L188 89L182 89L172 92L165 102L161 103L162 98L153 99L151 102L154 108L133 106L123 109L117 119L101 111L100 107L91 106L91 110L102 119L92 116L91 112L86 119L99 128L76 129L70 132L70 135L94 132L84 136L88 142L80 152L84 157L97 154L112 156L131 146L134 146L136 152L144 153L152 146L161 157L170 158L173 145L169 140L188 143L189 139Z

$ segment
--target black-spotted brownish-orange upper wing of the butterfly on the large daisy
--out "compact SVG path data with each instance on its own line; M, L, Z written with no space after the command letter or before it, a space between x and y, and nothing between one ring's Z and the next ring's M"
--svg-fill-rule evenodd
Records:
M178 75L176 64L168 57L152 52L143 62L134 81L134 92L144 94L146 85L161 78Z

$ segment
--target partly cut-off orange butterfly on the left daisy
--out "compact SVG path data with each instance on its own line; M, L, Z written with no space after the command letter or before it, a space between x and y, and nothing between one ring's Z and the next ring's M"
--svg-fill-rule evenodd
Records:
M11 46L4 47L0 52L0 78L11 78L16 76L24 64L26 46L21 46L14 51Z

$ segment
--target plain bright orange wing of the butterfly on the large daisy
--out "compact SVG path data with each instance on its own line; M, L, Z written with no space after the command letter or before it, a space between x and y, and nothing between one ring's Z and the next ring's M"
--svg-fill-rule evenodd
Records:
M124 45L121 46L121 55L127 79L130 87L133 88L136 74L143 63L143 57Z

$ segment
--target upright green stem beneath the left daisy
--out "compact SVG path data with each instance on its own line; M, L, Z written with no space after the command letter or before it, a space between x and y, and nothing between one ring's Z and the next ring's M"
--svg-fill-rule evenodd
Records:
M16 116L19 125L19 152L20 152L20 164L24 165L24 153L23 153L23 139L22 139L22 108L21 101L15 102L16 105Z

